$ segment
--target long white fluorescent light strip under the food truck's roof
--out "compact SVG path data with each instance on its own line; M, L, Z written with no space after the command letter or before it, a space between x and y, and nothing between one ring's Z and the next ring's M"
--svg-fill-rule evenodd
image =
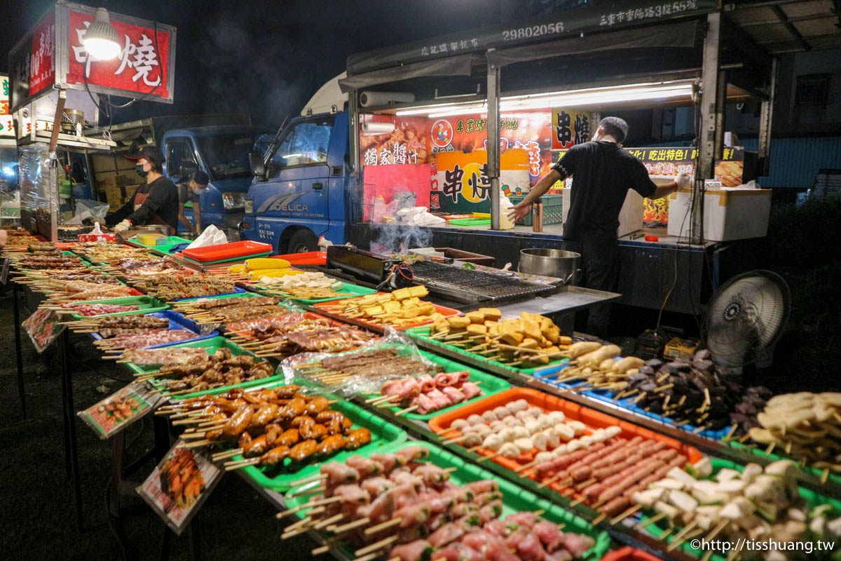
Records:
M535 93L501 98L500 110L510 111L516 108L547 108L563 104L570 106L576 104L592 105L595 103L672 98L689 95L691 91L690 82L653 82L620 87L593 87L569 90L568 92ZM444 117L466 113L486 113L487 110L488 105L485 102L442 103L440 105L405 109L396 112L396 114L397 116L426 114L429 117Z

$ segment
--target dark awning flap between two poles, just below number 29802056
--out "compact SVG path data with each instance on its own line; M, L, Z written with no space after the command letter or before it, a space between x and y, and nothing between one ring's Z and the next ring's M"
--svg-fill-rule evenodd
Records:
M693 47L696 43L697 28L696 21L686 21L678 24L653 25L642 29L622 29L611 33L572 37L510 49L489 50L485 56L493 66L506 66L516 62L537 61L603 50Z

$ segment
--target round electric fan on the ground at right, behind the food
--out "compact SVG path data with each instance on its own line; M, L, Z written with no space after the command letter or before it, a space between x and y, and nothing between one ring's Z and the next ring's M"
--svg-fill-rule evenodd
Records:
M770 366L790 309L791 292L777 273L757 270L731 278L706 307L713 362L735 374L747 364Z

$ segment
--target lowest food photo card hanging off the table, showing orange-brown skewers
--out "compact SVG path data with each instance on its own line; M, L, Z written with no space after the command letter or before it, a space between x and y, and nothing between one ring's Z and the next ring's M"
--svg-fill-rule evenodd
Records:
M172 532L181 535L220 479L220 468L204 449L184 447L184 441L178 440L137 493Z

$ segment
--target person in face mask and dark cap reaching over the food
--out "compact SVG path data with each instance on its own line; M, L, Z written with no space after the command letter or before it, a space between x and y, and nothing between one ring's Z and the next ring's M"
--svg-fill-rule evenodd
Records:
M137 161L137 174L145 177L123 208L108 213L105 223L115 232L124 232L139 225L167 225L170 235L178 226L178 189L163 177L163 154L154 146L145 146L139 153L125 156Z

